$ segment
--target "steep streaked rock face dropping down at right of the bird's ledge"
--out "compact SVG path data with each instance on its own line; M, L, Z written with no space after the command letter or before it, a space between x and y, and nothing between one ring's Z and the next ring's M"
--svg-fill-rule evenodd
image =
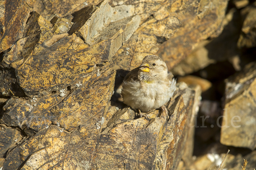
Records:
M172 111L173 114L157 147L155 160L157 170L177 169L180 159L186 157L184 161L187 165L191 163L192 159L194 119L201 91L199 88L195 88L195 93L187 88L185 83L179 83L177 87L179 91L175 93L168 104L169 111ZM182 92L181 96L180 92Z

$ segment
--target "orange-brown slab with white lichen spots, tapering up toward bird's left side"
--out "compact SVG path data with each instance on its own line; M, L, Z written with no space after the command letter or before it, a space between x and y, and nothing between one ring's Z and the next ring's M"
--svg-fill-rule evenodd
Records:
M12 98L4 105L0 121L21 129L29 127L36 132L48 128L52 122L68 131L74 130L96 113L106 112L114 77L114 71L105 71L100 76L94 73L81 79L70 90L62 89L63 92L57 94L31 100Z

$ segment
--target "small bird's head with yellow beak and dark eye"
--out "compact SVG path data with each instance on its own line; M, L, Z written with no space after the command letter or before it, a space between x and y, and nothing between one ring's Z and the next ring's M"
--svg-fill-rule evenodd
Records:
M139 76L146 76L149 79L153 77L166 76L168 69L166 63L158 56L148 55L142 60L139 66Z

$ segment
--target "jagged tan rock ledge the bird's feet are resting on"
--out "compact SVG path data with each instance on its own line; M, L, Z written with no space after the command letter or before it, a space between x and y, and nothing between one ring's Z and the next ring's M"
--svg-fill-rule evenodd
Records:
M105 122L106 111L99 108L101 113L85 113L88 120L73 131L62 128L64 123L59 127L49 125L10 151L3 170L18 167L21 170L39 167L115 170L123 166L146 170L176 169L181 153L186 153L186 141L192 142L188 133L194 128L188 124L194 121L192 114L195 114L198 95L198 90L192 91L185 83L178 84L175 95L166 104L170 117L157 110L149 113L150 121L134 119L134 111L120 108ZM95 95L88 95L91 96ZM73 107L76 108L76 104Z

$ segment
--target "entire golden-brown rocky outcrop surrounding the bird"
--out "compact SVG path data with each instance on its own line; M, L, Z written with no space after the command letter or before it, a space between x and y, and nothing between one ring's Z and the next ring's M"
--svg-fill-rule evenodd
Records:
M147 54L169 68L223 28L227 0L3 1L0 168L177 169L192 161L201 88L180 82L169 114L118 101ZM15 5L15 6L12 6Z

